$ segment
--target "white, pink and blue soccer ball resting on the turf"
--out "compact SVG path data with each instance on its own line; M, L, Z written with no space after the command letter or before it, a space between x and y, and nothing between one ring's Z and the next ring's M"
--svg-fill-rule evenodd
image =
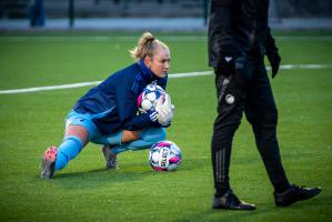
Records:
M155 171L177 170L181 161L181 150L172 141L160 141L150 149L149 162Z

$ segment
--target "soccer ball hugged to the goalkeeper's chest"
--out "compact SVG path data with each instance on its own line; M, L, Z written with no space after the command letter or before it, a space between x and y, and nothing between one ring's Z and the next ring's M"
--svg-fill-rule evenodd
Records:
M138 97L138 108L140 113L147 113L154 109L158 100L164 100L165 91L157 83L148 84Z

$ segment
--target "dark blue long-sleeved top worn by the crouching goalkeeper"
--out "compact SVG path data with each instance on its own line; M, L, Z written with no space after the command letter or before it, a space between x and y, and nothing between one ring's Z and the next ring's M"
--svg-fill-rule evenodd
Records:
M147 84L153 81L165 89L168 77L157 77L140 60L89 90L74 104L73 110L78 113L90 114L102 134L155 125L148 113L137 114L137 98Z

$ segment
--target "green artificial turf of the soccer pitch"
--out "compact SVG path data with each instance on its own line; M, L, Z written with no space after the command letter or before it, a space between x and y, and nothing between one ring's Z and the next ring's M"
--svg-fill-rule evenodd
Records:
M0 90L101 81L132 62L128 50L139 36L1 33ZM204 33L155 36L171 49L170 74L211 70ZM330 67L281 70L271 81L286 174L300 185L321 185L323 191L316 198L290 208L274 206L273 189L243 118L233 142L230 178L234 192L258 209L211 210L210 141L215 117L211 74L169 79L175 117L168 139L183 155L175 172L154 172L148 150L122 153L120 169L107 171L100 147L90 143L53 180L41 180L42 152L48 145L59 145L66 114L90 87L0 94L0 221L331 221L331 36L278 32L283 64Z

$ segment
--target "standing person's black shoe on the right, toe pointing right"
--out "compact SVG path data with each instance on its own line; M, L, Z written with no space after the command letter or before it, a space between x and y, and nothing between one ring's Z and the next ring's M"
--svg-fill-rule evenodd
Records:
M276 206L288 206L298 201L311 199L321 191L321 188L305 188L293 184L283 193L274 192L274 202Z

